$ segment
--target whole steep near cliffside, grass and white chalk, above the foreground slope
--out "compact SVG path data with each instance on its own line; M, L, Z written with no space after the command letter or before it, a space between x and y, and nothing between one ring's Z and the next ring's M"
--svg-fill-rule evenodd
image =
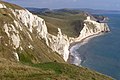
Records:
M60 29L58 35L53 36L48 33L44 19L24 8L0 2L1 57L28 62L64 62L61 56L67 61L68 47L68 38L62 35Z

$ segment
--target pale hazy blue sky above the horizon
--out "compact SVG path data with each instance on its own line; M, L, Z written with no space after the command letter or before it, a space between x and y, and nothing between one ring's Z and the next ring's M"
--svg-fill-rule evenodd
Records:
M4 0L23 7L120 10L120 0Z

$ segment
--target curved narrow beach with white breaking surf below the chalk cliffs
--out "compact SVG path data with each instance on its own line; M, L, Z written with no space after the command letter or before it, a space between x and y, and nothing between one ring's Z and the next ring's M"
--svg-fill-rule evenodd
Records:
M70 55L69 55L68 62L70 64L75 64L77 66L81 66L81 63L83 63L85 60L85 57L84 57L85 54L78 53L76 50L78 50L81 46L87 44L91 39L101 36L101 35L104 35L105 33L107 33L107 32L99 32L99 33L87 36L87 37L81 39L80 41L72 42L69 46Z

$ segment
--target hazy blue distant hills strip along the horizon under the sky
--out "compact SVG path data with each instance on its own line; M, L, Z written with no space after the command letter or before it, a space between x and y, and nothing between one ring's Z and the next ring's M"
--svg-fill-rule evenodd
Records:
M29 11L34 12L48 12L48 11L57 11L57 12L71 12L71 13L79 13L79 12L88 12L91 14L120 14L118 10L97 10L97 9L89 9L89 8L63 8L63 9L49 9L49 8L27 8Z

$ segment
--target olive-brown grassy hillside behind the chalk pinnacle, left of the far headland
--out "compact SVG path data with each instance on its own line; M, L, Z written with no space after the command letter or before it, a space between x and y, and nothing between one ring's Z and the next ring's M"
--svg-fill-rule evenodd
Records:
M32 12L45 19L49 33L56 35L57 28L60 28L62 33L66 34L68 37L79 36L84 26L83 21L87 16L85 12L71 9Z

